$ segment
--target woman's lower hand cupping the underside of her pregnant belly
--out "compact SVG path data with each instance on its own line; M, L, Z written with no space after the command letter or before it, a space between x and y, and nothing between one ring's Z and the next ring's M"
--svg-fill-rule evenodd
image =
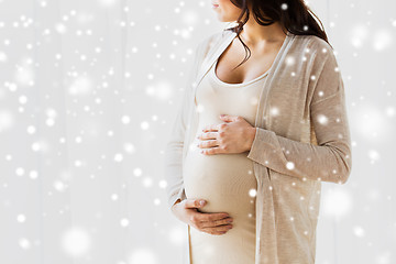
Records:
M200 199L177 200L172 206L172 212L188 226L209 234L223 234L232 228L232 218L227 212L199 212L206 204ZM204 200L202 200L204 201Z

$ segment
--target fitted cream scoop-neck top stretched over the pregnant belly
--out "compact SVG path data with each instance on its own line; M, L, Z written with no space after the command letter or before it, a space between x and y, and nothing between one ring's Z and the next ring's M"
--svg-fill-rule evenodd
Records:
M221 113L241 116L254 127L258 97L268 72L244 84L228 84L215 73L217 62L197 87L199 114L198 130L193 147L183 165L187 198L202 198L207 205L201 212L228 212L233 228L227 233L212 235L190 229L193 264L254 263L255 256L255 196L257 187L253 162L248 153L200 154L196 136L204 127L223 121ZM252 191L253 189L253 191Z

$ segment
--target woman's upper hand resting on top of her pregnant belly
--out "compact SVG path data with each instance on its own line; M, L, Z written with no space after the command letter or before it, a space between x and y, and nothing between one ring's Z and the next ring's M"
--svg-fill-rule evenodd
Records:
M211 124L197 136L202 154L242 153L251 150L255 128L238 116L220 116L226 123Z

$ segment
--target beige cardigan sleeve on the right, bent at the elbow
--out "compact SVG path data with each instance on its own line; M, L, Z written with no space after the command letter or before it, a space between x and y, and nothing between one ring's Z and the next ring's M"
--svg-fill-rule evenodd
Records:
M334 54L328 52L326 57L322 56L320 54L316 58L316 64L322 67L314 82L310 101L310 122L317 145L255 128L248 157L270 169L302 180L344 184L352 168L344 85Z

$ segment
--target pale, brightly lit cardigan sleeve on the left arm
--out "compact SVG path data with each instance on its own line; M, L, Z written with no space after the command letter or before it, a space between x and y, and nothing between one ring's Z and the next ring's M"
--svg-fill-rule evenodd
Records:
M195 48L193 67L189 69L189 75L187 77L187 84L184 89L182 103L179 105L176 112L176 118L173 123L170 136L168 138L165 147L164 177L166 180L165 191L169 209L178 199L186 199L183 182L183 147L185 131L188 125L188 113L190 112L189 110L193 107L190 103L190 99L193 96L193 88L196 85L194 84L194 80L198 75L198 70L207 53L208 48L206 47L209 41L210 37L205 38L204 41L198 43Z

